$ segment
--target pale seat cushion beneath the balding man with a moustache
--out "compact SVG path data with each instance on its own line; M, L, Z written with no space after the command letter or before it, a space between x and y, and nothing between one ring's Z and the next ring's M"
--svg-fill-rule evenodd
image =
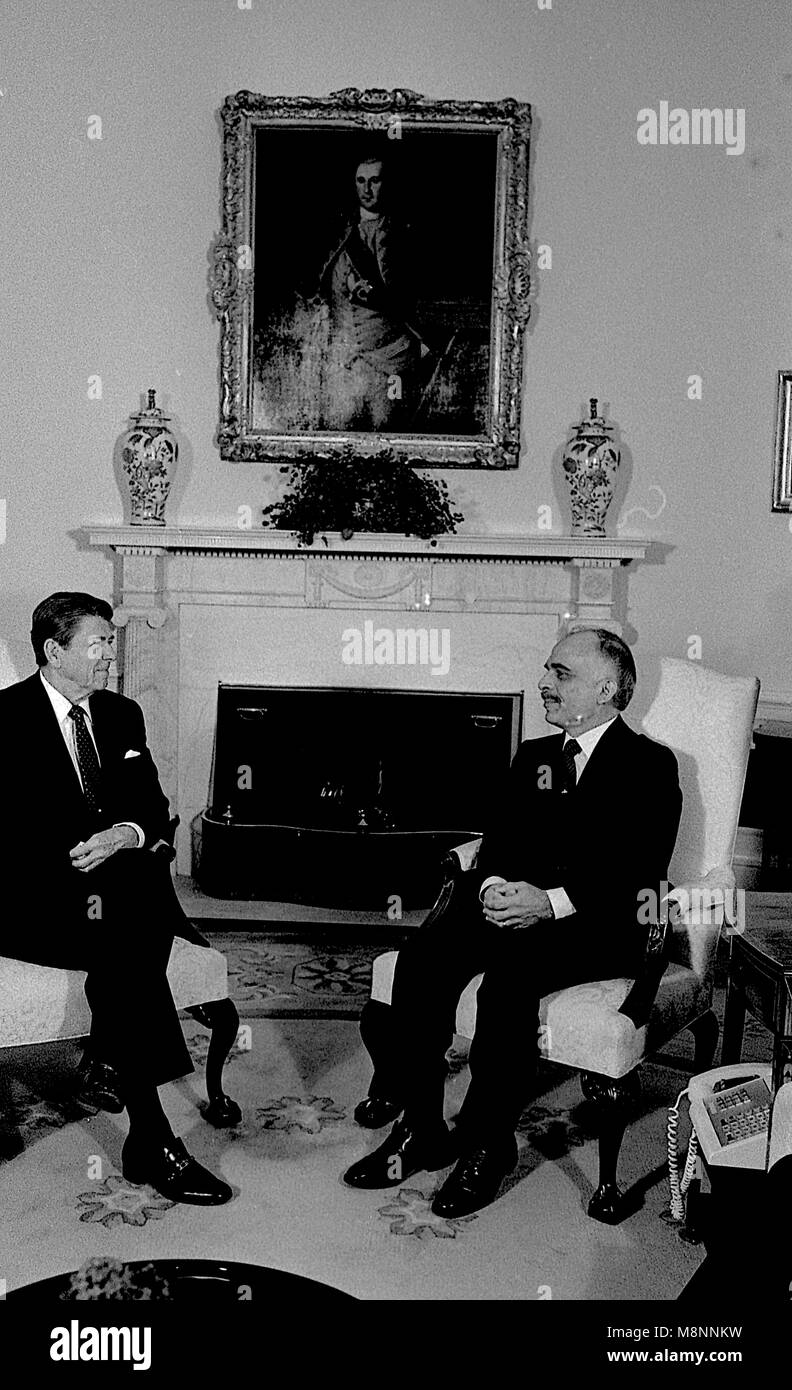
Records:
M374 962L371 998L390 1002L396 951ZM471 1038L475 1031L475 995L481 974L463 991L457 1008L456 1030ZM649 1030L636 1029L620 1013L632 980L595 980L547 994L539 1005L539 1051L550 1062L561 1062L582 1072L618 1079L627 1076L647 1051L663 1047L693 1019L710 1008L711 986L693 970L670 965L660 981L652 1009Z

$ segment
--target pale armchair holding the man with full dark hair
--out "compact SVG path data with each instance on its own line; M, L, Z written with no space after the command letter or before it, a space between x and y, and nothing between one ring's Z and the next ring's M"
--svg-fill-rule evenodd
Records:
M0 688L15 678L8 651L0 641ZM176 826L178 817L171 820L167 840L161 840L150 851L140 851L154 853L161 873L168 878ZM174 891L171 883L164 883L163 888ZM0 1049L86 1037L90 1031L90 1011L83 981L82 970L61 970L0 955ZM201 1113L215 1127L238 1125L242 1112L222 1090L222 1069L239 1029L236 1006L228 997L225 956L220 951L175 937L168 960L168 983L176 1008L186 1011L211 1033L206 1059L207 1102L201 1105ZM145 1006L142 1001L142 1012ZM13 1065L13 1054L0 1055L4 1066ZM0 1158L13 1156L19 1148L17 1134L4 1129L0 1120Z

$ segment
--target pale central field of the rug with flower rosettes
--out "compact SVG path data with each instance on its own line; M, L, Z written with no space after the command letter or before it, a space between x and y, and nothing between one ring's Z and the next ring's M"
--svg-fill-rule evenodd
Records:
M200 1068L207 1034L193 1020L185 1034ZM681 1084L667 1068L645 1069L621 1165L639 1209L621 1226L586 1218L597 1170L593 1118L578 1079L549 1065L522 1116L520 1162L502 1197L443 1220L431 1201L445 1173L371 1193L340 1180L383 1137L353 1120L370 1069L352 1020L245 1017L239 1044L226 1070L245 1112L236 1130L201 1120L200 1070L163 1088L175 1131L233 1187L232 1202L208 1209L175 1205L122 1177L124 1116L69 1113L63 1097L74 1045L49 1048L39 1062L31 1056L22 1070L15 1063L8 1086L25 1150L0 1166L8 1290L107 1255L251 1262L363 1300L673 1300L703 1258L661 1219L666 1112ZM449 1116L465 1086L460 1045Z

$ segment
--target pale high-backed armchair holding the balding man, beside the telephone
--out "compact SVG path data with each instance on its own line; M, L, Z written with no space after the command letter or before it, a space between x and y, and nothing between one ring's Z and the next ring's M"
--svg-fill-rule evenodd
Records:
M639 1091L641 1062L682 1029L691 1029L695 1038L693 1072L706 1070L714 1058L716 951L724 923L739 930L732 853L757 698L757 680L721 676L698 662L661 662L642 728L673 748L679 763L684 808L668 870L675 888L664 910L654 913L635 980L595 980L546 995L541 1004L541 1052L579 1070L584 1095L600 1111L599 1187L588 1213L609 1225L628 1212L617 1163ZM475 865L479 844L474 840L446 855L443 885L424 926L447 910L461 874ZM396 955L390 951L374 962L364 1027L375 1065L371 1095L377 1094L378 1047L385 1047L392 1030ZM460 998L456 1027L461 1037L474 1034L481 979Z

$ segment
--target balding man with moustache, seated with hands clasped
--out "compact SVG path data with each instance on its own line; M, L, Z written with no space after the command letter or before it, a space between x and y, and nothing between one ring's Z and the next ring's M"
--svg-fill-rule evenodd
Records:
M660 894L682 794L671 749L621 720L634 687L632 653L613 632L579 630L553 648L539 691L563 737L521 744L477 869L452 910L399 952L392 1045L377 1049L372 1093L358 1109L378 1111L382 1123L392 1097L390 1118L402 1102L404 1115L345 1173L349 1186L390 1187L459 1155L432 1211L453 1218L485 1207L517 1162L541 998L635 974L647 933L641 909L647 888ZM445 1052L459 997L482 972L471 1079L452 1137ZM367 1037L365 1017L361 1027Z

